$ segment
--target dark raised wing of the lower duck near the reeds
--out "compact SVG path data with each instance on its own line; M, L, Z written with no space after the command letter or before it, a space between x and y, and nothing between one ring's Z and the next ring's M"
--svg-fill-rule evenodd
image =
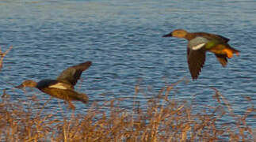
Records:
M90 65L92 65L92 62L89 61L89 62L83 62L81 64L71 66L63 70L63 72L60 73L57 80L63 81L75 86L75 84L78 82L78 79L80 79L82 72L88 69Z

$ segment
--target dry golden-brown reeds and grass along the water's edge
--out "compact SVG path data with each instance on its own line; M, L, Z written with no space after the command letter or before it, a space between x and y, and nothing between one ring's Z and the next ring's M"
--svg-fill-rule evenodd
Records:
M1 57L4 56L1 54ZM212 88L216 106L170 99L170 93L178 83L163 87L157 97L147 99L143 107L134 101L132 109L126 109L118 105L125 99L113 99L105 101L104 105L92 103L84 114L72 111L71 116L65 116L63 110L62 118L45 110L48 101L40 103L36 95L26 100L27 103L22 100L13 102L4 89L0 101L0 141L255 140L255 129L246 124L249 115L256 118L250 97L246 97L250 107L244 114L235 114L231 104L216 88ZM132 93L134 98L141 93L139 84Z

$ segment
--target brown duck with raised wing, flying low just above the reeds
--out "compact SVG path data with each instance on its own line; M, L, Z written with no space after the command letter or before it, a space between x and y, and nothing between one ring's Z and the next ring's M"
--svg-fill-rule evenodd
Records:
M82 103L87 103L88 101L86 94L75 92L74 86L80 79L82 72L88 69L90 65L92 65L90 61L83 62L63 70L56 80L40 80L38 83L34 80L25 80L15 88L38 88L41 92L67 101L71 109L75 110L75 106L71 101L81 101Z

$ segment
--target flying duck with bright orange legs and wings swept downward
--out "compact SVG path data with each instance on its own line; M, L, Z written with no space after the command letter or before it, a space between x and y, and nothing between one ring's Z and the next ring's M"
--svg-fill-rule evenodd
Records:
M186 32L183 29L176 29L162 37L169 36L183 38L189 41L187 59L193 80L196 80L201 72L206 51L214 53L223 67L227 65L227 58L232 58L233 54L239 55L239 50L232 48L227 43L229 39L224 36L207 32Z

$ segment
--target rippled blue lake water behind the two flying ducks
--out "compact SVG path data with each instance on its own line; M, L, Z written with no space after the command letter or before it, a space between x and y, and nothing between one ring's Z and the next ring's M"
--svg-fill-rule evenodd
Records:
M191 100L200 106L214 105L217 88L243 114L256 104L256 1L255 0L6 0L0 2L0 46L13 49L4 59L0 88L13 88L25 79L55 78L68 66L92 61L82 73L78 92L89 95L90 103L75 102L76 113L86 111L92 102L127 98L131 107L138 84L147 93L136 99L142 103L155 97L165 86L186 77L176 86L173 98ZM198 80L192 81L186 62L186 41L162 38L184 28L189 32L212 32L231 39L240 50L222 68L213 54ZM1 91L2 92L2 91ZM33 89L9 89L13 99L49 95ZM48 110L58 108L50 100ZM60 101L64 108L67 105ZM255 118L249 125L256 128Z

